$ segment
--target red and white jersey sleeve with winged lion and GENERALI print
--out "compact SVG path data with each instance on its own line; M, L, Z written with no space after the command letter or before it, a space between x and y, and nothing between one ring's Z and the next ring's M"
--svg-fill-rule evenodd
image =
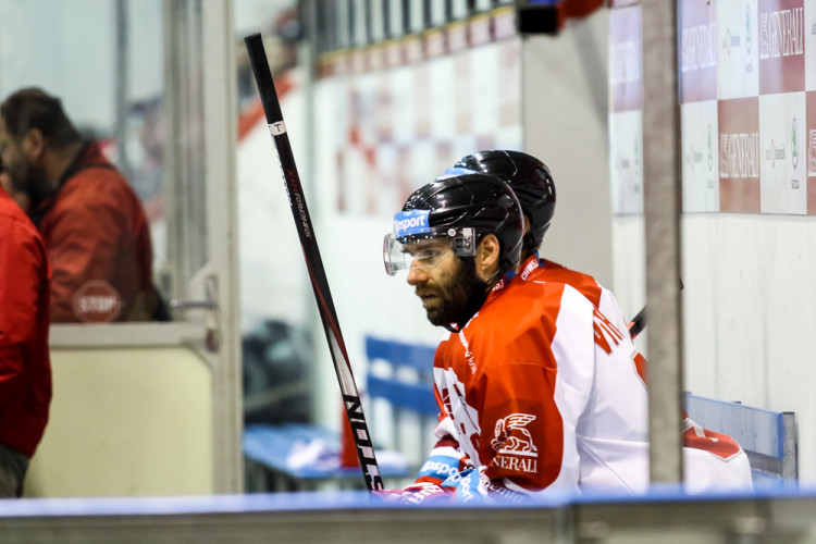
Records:
M578 487L576 429L594 376L593 305L564 286L540 319L507 338L507 353L493 354L506 362L487 364L478 384L482 495Z

